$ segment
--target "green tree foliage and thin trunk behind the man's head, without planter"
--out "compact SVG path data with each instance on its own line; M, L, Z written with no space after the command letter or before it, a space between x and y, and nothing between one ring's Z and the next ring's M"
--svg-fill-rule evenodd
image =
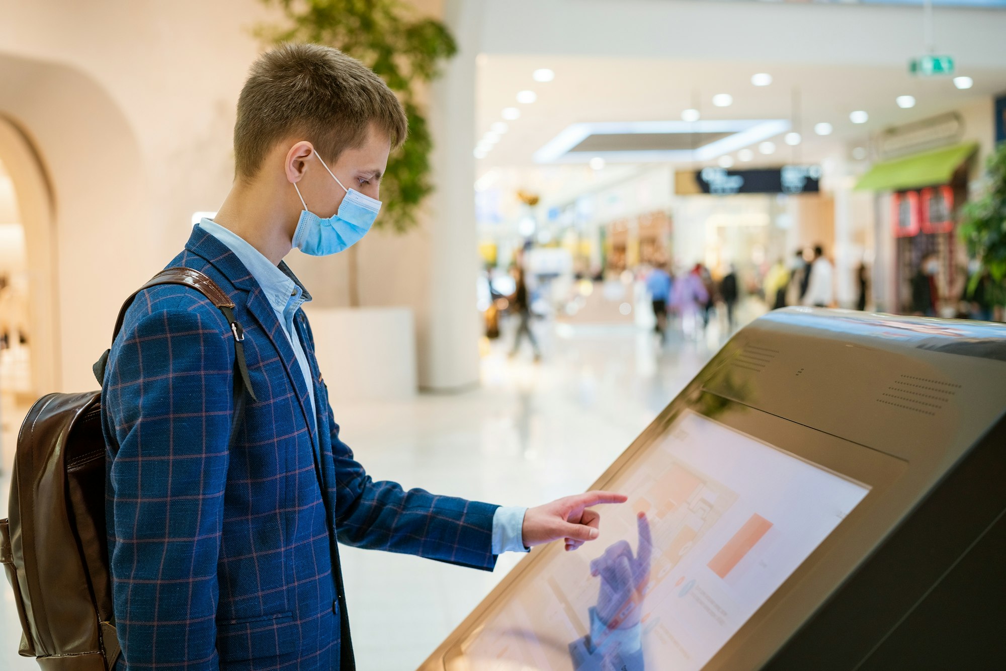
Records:
M381 179L381 215L376 228L404 232L416 224L420 205L434 190L430 175L433 139L422 89L453 56L457 44L447 26L418 15L402 0L262 0L278 6L283 25L260 26L272 42L328 44L358 58L401 101L408 118L408 141L388 161ZM349 248L349 302L359 305L357 248Z

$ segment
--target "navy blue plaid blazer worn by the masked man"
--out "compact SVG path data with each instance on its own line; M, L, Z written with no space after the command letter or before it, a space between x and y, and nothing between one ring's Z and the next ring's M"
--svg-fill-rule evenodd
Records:
M276 313L237 257L196 226L173 266L206 274L236 305L258 401L247 399L228 446L229 325L187 287L138 295L102 389L120 671L338 669L348 642L336 536L492 569L497 506L374 482L339 440L303 311L295 325L316 416Z

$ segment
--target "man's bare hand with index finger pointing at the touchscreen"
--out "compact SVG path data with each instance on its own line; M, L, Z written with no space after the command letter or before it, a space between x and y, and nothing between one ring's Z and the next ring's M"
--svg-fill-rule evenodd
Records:
M533 547L565 538L566 550L574 550L598 537L601 515L588 510L600 503L625 503L628 497L615 492L586 492L566 496L524 514L524 546Z

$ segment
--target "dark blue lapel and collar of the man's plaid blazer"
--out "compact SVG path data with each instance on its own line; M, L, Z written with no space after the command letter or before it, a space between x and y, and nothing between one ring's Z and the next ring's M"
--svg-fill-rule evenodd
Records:
M259 322L259 326L270 342L273 343L273 347L276 348L280 361L283 362L283 367L287 370L287 377L294 387L297 400L301 405L301 412L308 427L308 433L311 435L312 441L316 441L317 427L312 417L311 399L308 396L307 384L304 382L304 374L301 372L300 364L297 363L297 355L294 354L294 348L287 339L287 335L283 332L283 327L276 316L276 311L273 310L273 306L266 299L262 286L226 244L199 226L193 226L192 235L185 244L185 248L212 264L234 287L247 292L247 310L256 318L256 321ZM231 299L233 298L231 297Z

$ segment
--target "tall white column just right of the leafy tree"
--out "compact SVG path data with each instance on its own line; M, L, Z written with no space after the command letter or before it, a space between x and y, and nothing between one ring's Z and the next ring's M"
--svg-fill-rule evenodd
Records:
M431 157L436 191L430 198L430 311L420 333L420 386L457 390L479 381L479 316L475 230L475 56L484 4L447 0L444 21L458 53L431 90Z

